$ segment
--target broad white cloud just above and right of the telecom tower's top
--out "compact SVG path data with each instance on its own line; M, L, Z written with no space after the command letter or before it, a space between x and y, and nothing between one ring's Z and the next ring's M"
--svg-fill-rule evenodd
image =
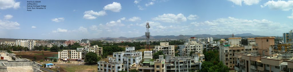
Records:
M158 17L153 18L153 20L163 21L168 23L179 23L182 21L186 21L186 17L183 14L163 14Z

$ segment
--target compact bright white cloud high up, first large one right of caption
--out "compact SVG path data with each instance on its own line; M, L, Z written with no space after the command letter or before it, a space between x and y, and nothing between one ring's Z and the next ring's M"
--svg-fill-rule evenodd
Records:
M113 2L112 4L108 4L106 6L104 6L103 8L104 10L110 10L113 12L120 12L121 8L121 4L117 3L117 2Z

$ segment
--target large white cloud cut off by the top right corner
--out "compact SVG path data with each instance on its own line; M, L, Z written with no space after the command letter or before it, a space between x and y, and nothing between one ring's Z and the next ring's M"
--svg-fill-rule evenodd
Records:
M262 8L266 6L268 6L270 9L281 9L283 11L289 11L290 9L293 9L293 1L268 1L261 5Z

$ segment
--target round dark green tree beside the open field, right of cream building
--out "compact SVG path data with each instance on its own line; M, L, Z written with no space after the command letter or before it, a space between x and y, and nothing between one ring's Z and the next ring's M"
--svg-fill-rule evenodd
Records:
M94 52L88 52L86 54L86 58L84 62L89 62L90 64L94 64L98 62L98 55Z

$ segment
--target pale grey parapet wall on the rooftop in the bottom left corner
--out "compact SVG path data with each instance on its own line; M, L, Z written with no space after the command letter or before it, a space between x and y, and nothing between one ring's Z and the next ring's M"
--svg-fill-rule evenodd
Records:
M33 62L6 62L6 66L32 66Z

